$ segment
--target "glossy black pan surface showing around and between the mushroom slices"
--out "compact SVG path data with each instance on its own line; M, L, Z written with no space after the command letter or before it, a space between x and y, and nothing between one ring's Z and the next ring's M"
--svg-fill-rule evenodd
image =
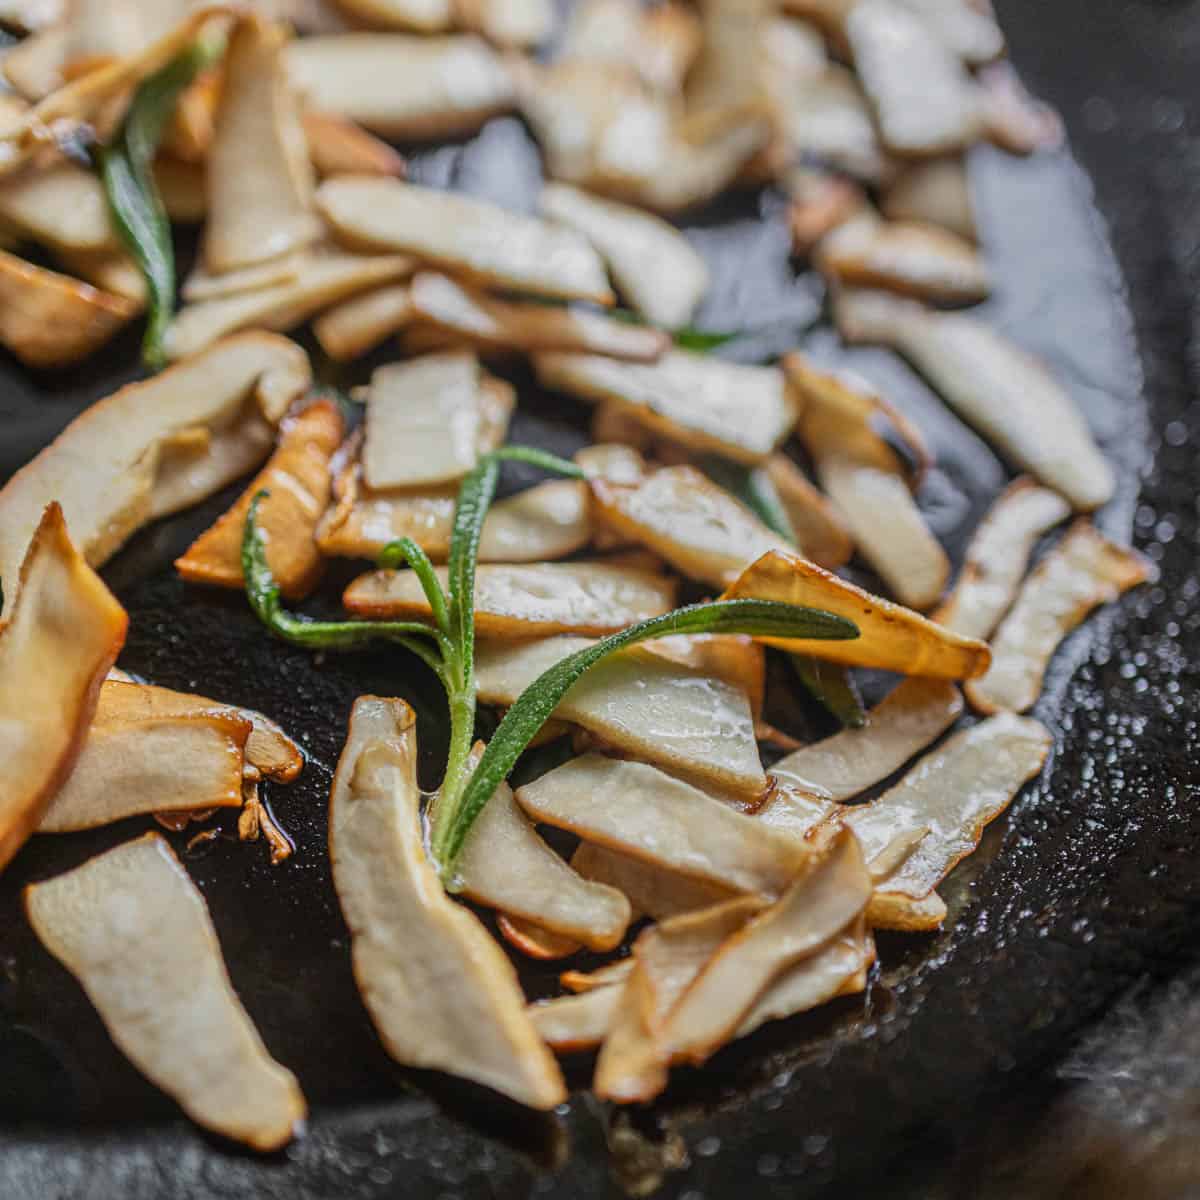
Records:
M547 1118L395 1068L350 979L325 799L356 695L414 704L431 775L440 700L400 652L314 661L268 642L240 598L174 578L173 557L234 488L144 530L106 576L132 617L122 666L263 709L310 755L300 781L269 794L299 845L290 863L272 869L260 846L228 841L188 859L239 992L312 1103L310 1129L265 1159L199 1134L112 1046L24 923L25 883L143 823L35 839L0 877L2 1200L888 1195L896 1153L986 1122L1132 979L1182 960L1200 902L1200 154L1187 107L1200 5L1007 0L998 10L1016 66L1062 110L1096 191L1067 154L974 155L997 282L985 312L1050 358L1086 408L1120 475L1102 523L1133 535L1162 576L1055 660L1037 709L1055 733L1051 766L952 877L946 931L881 941L865 1001L769 1027L703 1072L680 1072L660 1104L632 1114L584 1094L586 1063L570 1076L571 1103ZM414 155L413 175L524 206L538 158L522 126L502 120L469 143ZM686 227L716 281L697 323L744 331L731 354L802 343L884 389L931 442L938 468L922 504L961 553L1004 466L898 360L838 350L818 282L788 263L781 198L739 196ZM130 378L136 349L131 335L100 365L53 377L0 361L0 476ZM512 440L566 452L583 443L583 409L514 379ZM336 596L340 582L334 572L324 593ZM186 835L176 840L182 850ZM523 968L532 992L550 990L552 976Z

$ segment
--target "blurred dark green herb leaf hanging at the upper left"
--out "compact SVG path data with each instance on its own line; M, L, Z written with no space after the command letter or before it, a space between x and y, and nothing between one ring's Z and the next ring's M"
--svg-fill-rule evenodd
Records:
M163 335L175 307L175 250L154 179L154 156L180 94L222 49L220 44L196 42L144 79L112 145L100 151L100 173L113 224L146 281L150 302L142 356L156 368L166 362Z

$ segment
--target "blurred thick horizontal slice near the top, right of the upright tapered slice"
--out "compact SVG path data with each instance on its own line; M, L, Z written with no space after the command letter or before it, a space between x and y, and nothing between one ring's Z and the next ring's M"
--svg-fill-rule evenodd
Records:
M515 98L504 62L473 34L305 37L288 67L313 108L385 138L473 133Z

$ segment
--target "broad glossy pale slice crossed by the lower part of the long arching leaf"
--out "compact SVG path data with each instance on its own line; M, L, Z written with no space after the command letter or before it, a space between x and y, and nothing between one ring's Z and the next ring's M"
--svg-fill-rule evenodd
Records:
M511 704L544 671L588 644L568 636L484 644L475 662L479 697ZM742 799L755 800L766 790L750 702L722 679L665 659L616 654L568 691L556 715Z

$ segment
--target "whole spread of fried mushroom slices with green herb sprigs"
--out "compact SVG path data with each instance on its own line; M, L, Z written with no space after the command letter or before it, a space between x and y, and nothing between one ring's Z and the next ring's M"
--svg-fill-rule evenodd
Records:
M557 1056L594 1051L596 1094L646 1102L864 991L875 930L948 918L942 881L1046 760L1024 714L1056 648L1150 574L1087 515L1114 478L1068 388L950 311L989 290L966 150L1058 137L986 0L582 0L560 30L548 0L38 0L0 24L23 35L0 52L0 343L65 366L144 313L163 367L0 490L0 869L37 834L144 815L203 838L229 810L287 863L262 790L300 746L116 668L126 614L96 574L248 479L179 575L313 650L400 642L446 684L438 796L413 710L376 696L330 793L355 978L398 1062L551 1109ZM535 211L406 181L391 143L508 113L542 152ZM956 577L917 502L930 450L887 397L690 326L709 271L670 215L764 184L842 340L904 355L1024 473ZM199 227L178 296L168 222ZM284 336L306 325L346 368L372 354L361 388L314 384ZM590 406L574 461L509 444L512 358ZM492 504L505 457L560 478ZM838 574L854 556L886 595ZM284 610L332 558L370 564L344 619ZM838 732L768 721L770 658ZM895 677L869 710L865 670ZM476 703L506 714L487 745ZM510 786L546 742L558 764ZM193 1120L294 1135L296 1080L168 838L26 910ZM606 961L524 994L522 956L584 950Z

